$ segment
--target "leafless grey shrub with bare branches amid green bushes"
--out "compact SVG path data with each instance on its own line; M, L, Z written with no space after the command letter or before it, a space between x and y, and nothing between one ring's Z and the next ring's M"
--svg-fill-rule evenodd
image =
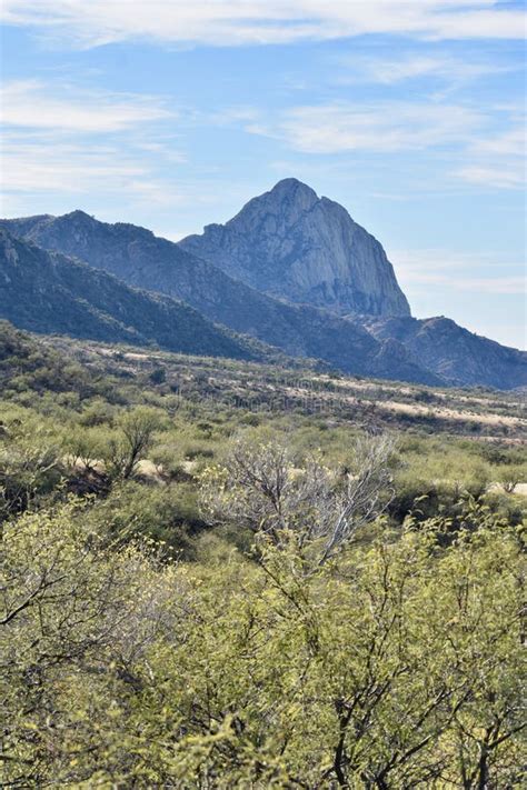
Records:
M223 467L202 476L201 508L211 522L243 524L276 544L285 532L300 544L318 541L325 562L386 509L392 449L387 436L359 439L339 473L318 456L298 463L285 444L241 440Z

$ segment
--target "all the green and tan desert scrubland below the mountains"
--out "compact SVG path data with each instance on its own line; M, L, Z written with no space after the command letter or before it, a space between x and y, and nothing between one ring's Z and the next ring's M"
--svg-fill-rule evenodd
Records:
M0 384L2 787L525 786L518 393L7 324Z

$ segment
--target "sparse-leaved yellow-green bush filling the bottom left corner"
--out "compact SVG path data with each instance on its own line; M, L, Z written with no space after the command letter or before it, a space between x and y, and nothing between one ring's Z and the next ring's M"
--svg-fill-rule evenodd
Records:
M4 526L0 542L0 784L76 784L106 756L149 644L175 628L170 566L102 550L68 503Z

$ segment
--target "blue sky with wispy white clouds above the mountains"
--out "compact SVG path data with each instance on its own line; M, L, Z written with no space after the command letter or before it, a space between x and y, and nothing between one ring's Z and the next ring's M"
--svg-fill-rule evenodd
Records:
M1 0L3 217L178 240L296 177L414 316L526 346L525 3Z

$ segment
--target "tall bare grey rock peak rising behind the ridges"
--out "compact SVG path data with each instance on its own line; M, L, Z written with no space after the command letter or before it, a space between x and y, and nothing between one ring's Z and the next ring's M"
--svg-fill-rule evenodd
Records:
M180 242L259 291L338 314L409 316L381 244L339 203L279 181L226 224Z

